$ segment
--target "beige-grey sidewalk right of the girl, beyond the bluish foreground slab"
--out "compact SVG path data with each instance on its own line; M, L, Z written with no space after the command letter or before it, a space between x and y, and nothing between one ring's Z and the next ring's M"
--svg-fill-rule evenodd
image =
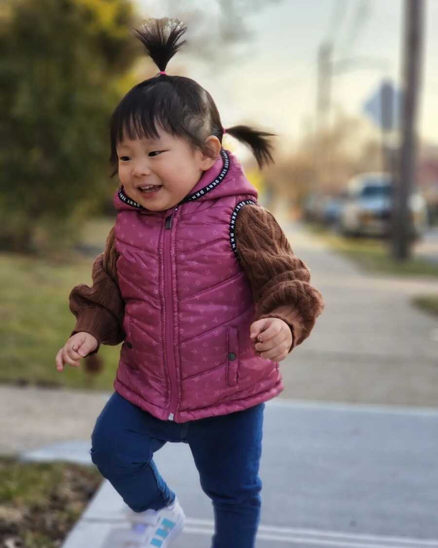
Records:
M285 226L326 301L310 337L281 362L288 398L438 406L438 320L410 304L438 279L362 273L301 225Z

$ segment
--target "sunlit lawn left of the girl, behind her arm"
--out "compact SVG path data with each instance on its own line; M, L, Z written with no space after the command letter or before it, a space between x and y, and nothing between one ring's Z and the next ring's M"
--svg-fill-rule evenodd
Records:
M90 223L84 243L103 249L111 226L111 220ZM55 368L56 353L76 322L68 295L79 283L91 285L94 259L67 252L50 262L0 253L0 382L112 390L120 346L101 346L104 368L99 375L85 373L82 366L67 365L63 372Z

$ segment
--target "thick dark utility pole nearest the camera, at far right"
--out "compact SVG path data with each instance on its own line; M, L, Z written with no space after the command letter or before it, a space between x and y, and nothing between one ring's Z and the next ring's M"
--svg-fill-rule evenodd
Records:
M416 167L416 121L422 64L424 0L405 0L403 36L403 100L401 101L401 147L397 158L392 215L392 252L396 260L410 254L412 219L408 201L414 188Z

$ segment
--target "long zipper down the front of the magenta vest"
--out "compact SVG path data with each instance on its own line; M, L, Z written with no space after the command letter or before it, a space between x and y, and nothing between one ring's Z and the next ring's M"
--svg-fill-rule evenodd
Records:
M174 211L178 208L176 207ZM165 229L171 229L174 212L166 217ZM177 378L174 356L174 312L172 299L172 262L170 256L170 232L164 232L164 309L166 311L166 359L170 376L170 409L168 420L174 420L176 412Z

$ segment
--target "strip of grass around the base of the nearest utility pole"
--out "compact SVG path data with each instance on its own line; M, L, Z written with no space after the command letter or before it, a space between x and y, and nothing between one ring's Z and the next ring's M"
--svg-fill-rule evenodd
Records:
M380 239L340 236L313 222L306 223L306 227L331 249L352 259L367 272L438 277L438 265L416 257L396 261L389 253L388 243Z

